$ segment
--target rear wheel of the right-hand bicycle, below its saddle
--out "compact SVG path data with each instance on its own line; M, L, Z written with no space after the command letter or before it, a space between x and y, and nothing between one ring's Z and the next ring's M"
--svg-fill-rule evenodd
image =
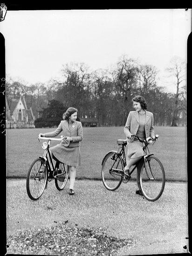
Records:
M117 172L119 170L119 173ZM123 161L117 152L109 152L102 162L102 180L108 190L116 190L123 180Z

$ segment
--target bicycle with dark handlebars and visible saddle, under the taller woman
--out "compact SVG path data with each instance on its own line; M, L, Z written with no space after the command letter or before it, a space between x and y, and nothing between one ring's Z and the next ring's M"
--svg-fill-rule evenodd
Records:
M137 168L137 183L143 196L149 201L156 201L162 195L165 188L165 170L160 160L150 154L148 144L155 143L158 135L154 139L148 137L146 139L133 135L143 142L144 156L130 171L130 175ZM127 183L130 177L124 174L126 166L125 146L126 139L118 139L117 144L120 146L118 151L108 152L102 161L102 180L104 186L111 191L116 190L122 182Z

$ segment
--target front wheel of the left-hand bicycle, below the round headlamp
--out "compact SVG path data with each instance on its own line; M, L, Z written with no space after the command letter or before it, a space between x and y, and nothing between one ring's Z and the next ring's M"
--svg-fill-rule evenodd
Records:
M43 194L48 179L48 172L44 161L36 159L27 173L27 194L30 199L37 200Z

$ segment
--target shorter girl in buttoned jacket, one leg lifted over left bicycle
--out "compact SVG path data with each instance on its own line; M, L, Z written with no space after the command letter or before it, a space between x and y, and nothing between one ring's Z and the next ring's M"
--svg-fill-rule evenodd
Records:
M80 165L80 141L82 141L82 123L76 121L77 109L70 107L64 114L55 131L40 133L41 137L55 137L62 132L66 138L60 144L50 147L50 152L60 162L70 166L69 194L74 194L76 166Z

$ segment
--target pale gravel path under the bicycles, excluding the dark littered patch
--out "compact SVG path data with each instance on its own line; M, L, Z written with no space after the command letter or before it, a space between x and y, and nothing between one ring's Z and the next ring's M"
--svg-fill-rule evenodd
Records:
M69 185L67 185L69 186ZM186 183L167 182L162 197L146 201L135 183L111 192L101 181L77 180L75 195L59 192L54 182L38 201L26 193L25 180L7 180L7 237L33 228L52 228L68 221L73 228L102 228L117 239L131 240L117 255L187 252Z

